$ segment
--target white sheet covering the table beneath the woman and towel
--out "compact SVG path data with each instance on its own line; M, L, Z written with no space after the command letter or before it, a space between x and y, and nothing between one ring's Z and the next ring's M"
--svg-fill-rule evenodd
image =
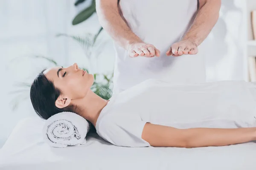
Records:
M256 170L256 143L204 148L116 147L99 136L77 147L43 142L44 122L18 123L0 150L0 170Z

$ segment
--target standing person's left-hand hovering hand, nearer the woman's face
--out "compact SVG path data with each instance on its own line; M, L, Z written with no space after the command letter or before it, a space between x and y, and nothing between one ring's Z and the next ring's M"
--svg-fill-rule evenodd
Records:
M134 42L128 46L128 54L130 57L160 57L160 51L154 45L144 42Z

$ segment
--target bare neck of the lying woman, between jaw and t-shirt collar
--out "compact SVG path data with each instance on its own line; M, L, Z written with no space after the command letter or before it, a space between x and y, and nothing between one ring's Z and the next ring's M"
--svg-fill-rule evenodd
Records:
M84 98L73 101L73 104L78 106L78 114L90 121L95 127L99 114L108 104L108 100L102 99L90 90Z

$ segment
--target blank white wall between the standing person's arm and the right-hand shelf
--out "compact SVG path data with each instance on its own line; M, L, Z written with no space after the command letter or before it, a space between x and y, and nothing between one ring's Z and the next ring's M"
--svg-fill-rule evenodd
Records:
M247 80L246 2L222 0L220 17L201 45L207 81Z

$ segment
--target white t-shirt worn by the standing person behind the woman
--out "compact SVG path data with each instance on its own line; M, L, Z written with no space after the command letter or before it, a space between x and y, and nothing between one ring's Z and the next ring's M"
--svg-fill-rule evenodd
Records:
M182 39L191 27L198 0L120 0L123 17L131 30L145 43L161 51L160 57L128 56L115 44L114 93L119 93L146 79L169 79L173 83L205 82L203 56L166 56L166 51Z

